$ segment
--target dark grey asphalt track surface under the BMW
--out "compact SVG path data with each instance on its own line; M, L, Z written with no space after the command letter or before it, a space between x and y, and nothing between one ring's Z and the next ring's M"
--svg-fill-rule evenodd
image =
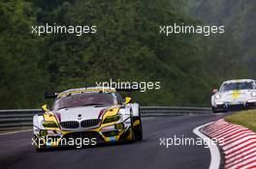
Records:
M161 138L196 138L195 127L227 114L144 118L144 140L129 144L35 152L32 131L0 136L0 168L207 169L210 154L203 146L160 146Z

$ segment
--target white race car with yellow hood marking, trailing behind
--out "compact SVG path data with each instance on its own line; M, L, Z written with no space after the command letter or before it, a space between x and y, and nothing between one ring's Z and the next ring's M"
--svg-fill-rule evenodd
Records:
M213 90L212 111L226 112L234 109L256 107L256 82L252 79L225 81L218 91Z

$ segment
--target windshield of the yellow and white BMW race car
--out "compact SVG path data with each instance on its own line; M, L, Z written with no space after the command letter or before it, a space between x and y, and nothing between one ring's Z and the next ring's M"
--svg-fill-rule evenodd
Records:
M82 93L56 99L53 109L79 107L88 105L114 105L117 104L113 93Z

